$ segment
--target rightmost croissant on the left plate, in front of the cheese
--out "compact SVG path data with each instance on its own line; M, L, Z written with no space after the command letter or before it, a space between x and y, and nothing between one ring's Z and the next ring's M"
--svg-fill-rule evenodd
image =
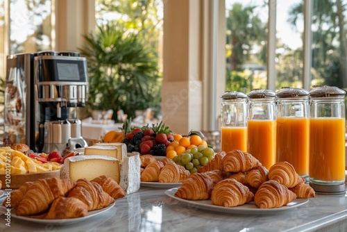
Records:
M118 199L126 196L126 191L110 176L99 176L92 179L92 182L99 183L103 191L107 192L111 197Z

